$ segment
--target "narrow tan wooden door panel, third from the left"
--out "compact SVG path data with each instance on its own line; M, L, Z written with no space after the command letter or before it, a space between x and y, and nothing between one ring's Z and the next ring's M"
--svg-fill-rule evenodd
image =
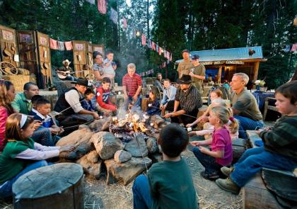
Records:
M42 87L47 88L52 84L52 64L50 59L50 38L40 32L36 32L38 64L41 73Z

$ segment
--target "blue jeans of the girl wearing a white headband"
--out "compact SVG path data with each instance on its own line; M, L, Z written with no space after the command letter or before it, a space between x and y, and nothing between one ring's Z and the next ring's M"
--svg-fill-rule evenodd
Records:
M0 185L0 197L1 198L7 198L9 196L12 196L12 186L13 183L18 180L23 174L27 173L28 171L32 171L34 169L40 168L42 166L47 166L47 162L45 160L37 161L33 164L30 164L23 169L20 173L18 173L16 176L14 176L11 180L4 182L2 185Z

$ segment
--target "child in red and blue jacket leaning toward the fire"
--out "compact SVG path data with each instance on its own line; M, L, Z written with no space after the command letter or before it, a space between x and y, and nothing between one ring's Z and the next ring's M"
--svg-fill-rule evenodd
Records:
M110 84L110 78L104 77L102 86L97 88L96 94L99 111L105 113L105 115L110 115L112 112L117 111L117 106L110 101Z

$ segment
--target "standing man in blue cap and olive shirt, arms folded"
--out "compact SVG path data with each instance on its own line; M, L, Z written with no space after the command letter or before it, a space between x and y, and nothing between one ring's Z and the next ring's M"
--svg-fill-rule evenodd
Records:
M192 56L192 63L194 67L190 69L190 77L194 81L193 86L197 88L197 90L202 93L203 80L205 79L205 67L204 64L199 63L199 56Z

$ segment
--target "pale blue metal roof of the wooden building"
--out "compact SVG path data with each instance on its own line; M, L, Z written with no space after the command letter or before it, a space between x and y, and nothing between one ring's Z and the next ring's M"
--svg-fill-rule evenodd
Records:
M255 50L255 54L249 55L249 50ZM199 62L220 61L220 60L250 60L263 59L262 47L240 47L222 50L192 51L190 55L199 55ZM180 62L177 60L176 62Z

